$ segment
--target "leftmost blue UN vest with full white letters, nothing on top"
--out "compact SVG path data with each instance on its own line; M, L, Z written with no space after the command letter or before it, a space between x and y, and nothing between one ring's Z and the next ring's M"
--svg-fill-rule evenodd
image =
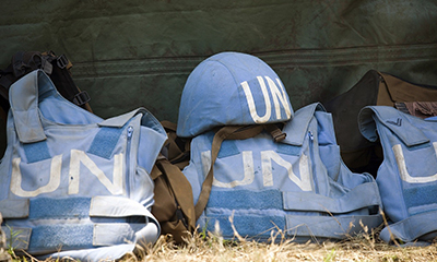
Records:
M10 103L0 212L16 251L114 260L157 239L149 172L166 134L149 111L101 119L40 70L11 86Z

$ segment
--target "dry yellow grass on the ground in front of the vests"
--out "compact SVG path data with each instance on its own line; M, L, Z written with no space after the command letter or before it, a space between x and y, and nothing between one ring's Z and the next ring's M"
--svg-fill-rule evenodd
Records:
M121 261L437 261L437 242L426 247L389 246L373 233L340 242L296 243L279 236L273 239L274 243L229 241L211 233L196 233L186 239L186 245L176 246L169 236L162 236L154 246L139 245L135 253L125 255Z

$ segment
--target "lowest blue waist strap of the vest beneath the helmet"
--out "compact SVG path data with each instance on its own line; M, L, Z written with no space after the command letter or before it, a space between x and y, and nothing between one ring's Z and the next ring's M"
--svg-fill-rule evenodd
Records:
M285 236L293 237L296 241L307 241L317 238L343 239L364 231L363 227L376 228L382 223L377 215L345 215L320 216L314 215L285 215L281 213L264 213L262 215L248 215L239 212L223 214L209 210L210 223L206 229L214 231L215 222L225 238L234 237L235 230L243 237L253 239L269 239L272 229L283 230ZM229 216L233 222L229 222ZM363 226L362 226L363 225Z

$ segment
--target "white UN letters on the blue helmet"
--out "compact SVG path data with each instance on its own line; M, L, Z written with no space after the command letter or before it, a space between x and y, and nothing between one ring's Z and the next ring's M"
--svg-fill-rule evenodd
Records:
M285 90L284 90L284 86L281 84L281 81L279 79L276 79L276 83L279 85L279 87L277 87L276 84L273 82L273 80L271 80L269 76L264 76L264 78L269 84L269 90L270 90L270 93L273 98L276 119L281 119L281 107L280 107L279 100L281 102L282 106L285 108L286 118L290 118L292 115L292 111L290 109L288 100L286 99ZM249 87L249 84L247 83L247 81L243 82L240 85L243 87L243 91L245 92L247 105L249 106L250 116L252 117L253 121L256 123L264 123L270 119L270 117L272 115L272 106L270 103L270 96L269 96L269 92L267 90L264 80L262 79L262 76L257 76L257 79L260 84L261 92L264 97L264 104L265 104L265 115L262 117L258 116L257 108L255 106L253 96L252 96L252 93L250 91L250 87Z

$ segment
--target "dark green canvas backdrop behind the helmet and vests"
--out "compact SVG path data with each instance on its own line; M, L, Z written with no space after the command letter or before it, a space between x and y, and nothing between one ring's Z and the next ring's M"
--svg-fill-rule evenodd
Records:
M370 69L437 84L434 0L14 0L0 3L0 68L20 50L66 53L102 118L143 106L176 122L188 74L221 51L264 60L295 110Z

